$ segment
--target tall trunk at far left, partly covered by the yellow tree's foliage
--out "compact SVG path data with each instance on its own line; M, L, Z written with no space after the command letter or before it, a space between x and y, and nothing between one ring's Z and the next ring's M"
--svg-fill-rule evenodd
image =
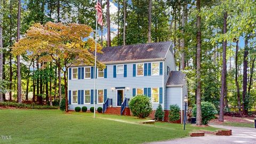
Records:
M19 42L19 39L20 39L20 11L21 11L21 0L19 0L19 3L18 3L17 42ZM17 78L18 78L17 101L18 101L18 103L21 103L22 98L21 98L20 55L17 56Z

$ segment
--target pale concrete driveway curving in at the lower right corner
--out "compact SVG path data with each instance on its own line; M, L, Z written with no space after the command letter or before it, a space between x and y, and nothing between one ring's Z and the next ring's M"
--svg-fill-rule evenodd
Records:
M247 127L233 127L233 126L222 126L222 125L211 125L213 127L219 127L222 129L232 130L231 136L215 136L205 135L204 137L188 137L182 139L174 139L170 141L159 141L153 142L154 144L165 144L165 143L191 143L191 144L230 144L230 143L256 143L256 129Z

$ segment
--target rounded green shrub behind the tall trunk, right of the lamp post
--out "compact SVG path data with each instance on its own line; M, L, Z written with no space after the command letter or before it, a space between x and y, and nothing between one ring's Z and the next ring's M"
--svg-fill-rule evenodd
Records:
M192 109L193 116L196 116L196 105ZM215 106L211 102L203 101L201 102L201 113L202 113L202 123L207 125L211 119L215 118L218 113Z

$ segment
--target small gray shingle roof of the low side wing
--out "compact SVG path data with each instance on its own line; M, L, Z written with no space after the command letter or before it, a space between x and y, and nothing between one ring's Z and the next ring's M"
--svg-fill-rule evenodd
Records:
M185 81L185 74L181 71L171 71L170 77L166 85L183 85Z

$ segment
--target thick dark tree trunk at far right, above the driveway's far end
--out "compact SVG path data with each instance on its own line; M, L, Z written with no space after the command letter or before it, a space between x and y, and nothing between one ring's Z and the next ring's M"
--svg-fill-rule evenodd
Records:
M246 115L247 114L247 68L248 68L248 61L247 61L247 56L248 56L248 38L245 38L244 41L244 61L243 61L243 113Z

